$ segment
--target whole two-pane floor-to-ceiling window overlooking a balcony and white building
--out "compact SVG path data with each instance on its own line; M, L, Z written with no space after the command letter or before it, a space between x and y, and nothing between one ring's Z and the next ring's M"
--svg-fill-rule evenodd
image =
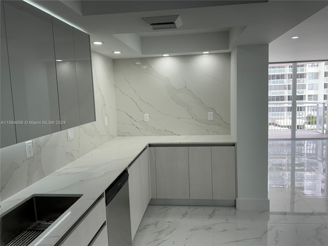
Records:
M326 134L328 61L269 65L270 139Z

